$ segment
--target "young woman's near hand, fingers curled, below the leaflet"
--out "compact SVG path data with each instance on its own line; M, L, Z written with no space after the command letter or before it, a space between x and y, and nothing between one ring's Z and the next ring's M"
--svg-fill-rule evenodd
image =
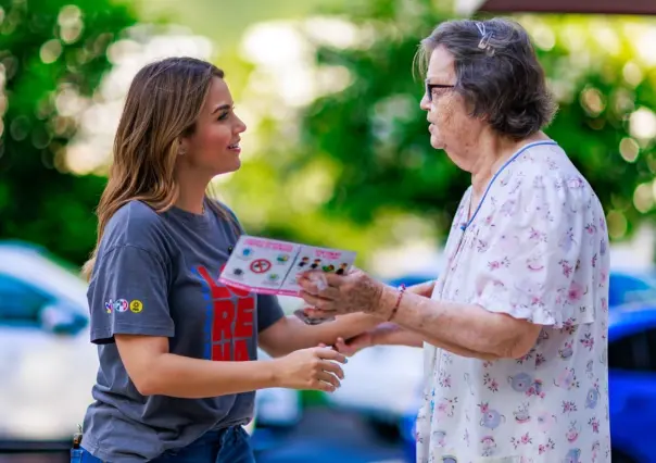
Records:
M331 348L316 347L298 350L273 362L279 387L333 392L344 378L339 364L346 363L346 358Z

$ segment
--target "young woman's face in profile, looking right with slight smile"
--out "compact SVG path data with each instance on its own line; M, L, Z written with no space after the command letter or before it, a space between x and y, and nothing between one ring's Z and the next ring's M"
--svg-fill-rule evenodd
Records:
M245 124L232 111L232 97L225 80L212 79L212 86L195 123L193 135L182 140L179 162L210 176L235 172L241 166L240 134Z

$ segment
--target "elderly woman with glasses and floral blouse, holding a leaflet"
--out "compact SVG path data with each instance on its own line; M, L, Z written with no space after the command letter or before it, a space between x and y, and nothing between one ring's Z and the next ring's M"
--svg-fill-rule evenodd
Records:
M439 279L300 278L313 316L384 321L348 343L424 346L419 462L609 462L608 238L594 191L541 129L555 105L527 33L442 23L421 42L430 143L471 174Z

